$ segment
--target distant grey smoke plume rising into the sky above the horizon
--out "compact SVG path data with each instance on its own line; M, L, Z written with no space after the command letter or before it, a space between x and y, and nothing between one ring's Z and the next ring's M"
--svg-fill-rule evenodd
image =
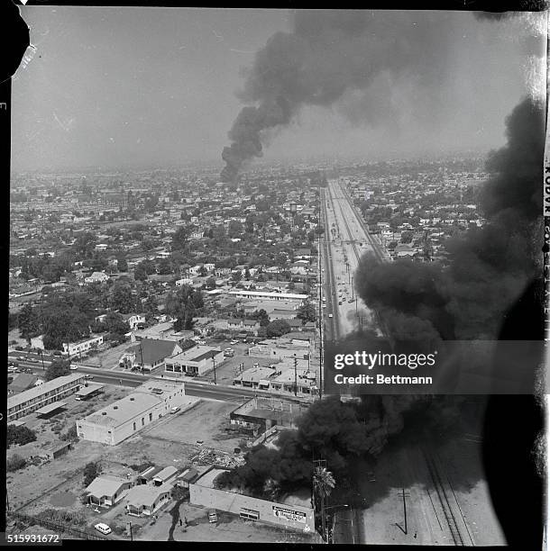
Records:
M383 72L429 88L445 68L451 28L441 14L298 12L293 32L274 34L246 75L239 98L247 105L229 131L222 179L234 181L244 162L261 157L265 132L289 124L305 105L332 105Z

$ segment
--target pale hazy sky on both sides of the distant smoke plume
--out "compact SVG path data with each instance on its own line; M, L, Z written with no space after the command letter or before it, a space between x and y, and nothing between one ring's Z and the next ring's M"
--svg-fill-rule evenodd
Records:
M194 160L223 167L227 131L243 106L235 96L243 69L274 32L290 32L293 24L282 10L21 12L37 51L14 77L14 171ZM412 29L426 13L406 17ZM543 82L534 74L545 38L533 36L542 16L530 24L459 12L430 17L441 17L442 32L429 85L422 76L382 71L367 89L349 90L330 107L306 106L269 136L264 158L500 147L505 116Z

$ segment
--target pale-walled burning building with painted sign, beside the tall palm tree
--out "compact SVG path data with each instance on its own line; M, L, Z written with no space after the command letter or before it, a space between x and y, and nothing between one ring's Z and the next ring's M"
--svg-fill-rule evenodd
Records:
M189 483L189 501L193 505L225 510L242 519L257 520L302 532L315 532L314 511L309 499L289 497L282 502L261 500L238 492L218 490L215 478L226 469L211 467L194 483Z

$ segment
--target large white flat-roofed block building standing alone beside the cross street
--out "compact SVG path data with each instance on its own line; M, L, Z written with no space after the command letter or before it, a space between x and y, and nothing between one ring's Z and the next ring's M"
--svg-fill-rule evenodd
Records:
M84 419L77 420L78 438L115 446L170 412L190 406L197 398L185 395L183 383L151 379L133 393Z

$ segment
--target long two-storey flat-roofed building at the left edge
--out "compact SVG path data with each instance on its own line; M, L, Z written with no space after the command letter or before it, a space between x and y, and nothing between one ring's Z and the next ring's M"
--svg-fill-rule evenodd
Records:
M23 393L7 399L8 422L20 419L33 411L40 410L53 402L59 402L76 393L86 382L84 375L70 374L57 377L48 383L33 386Z

